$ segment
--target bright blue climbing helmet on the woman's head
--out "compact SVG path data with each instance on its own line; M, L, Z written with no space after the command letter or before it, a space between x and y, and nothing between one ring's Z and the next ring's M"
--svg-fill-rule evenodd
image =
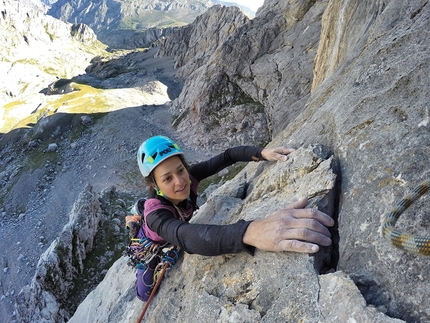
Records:
M147 177L163 160L183 154L181 148L170 138L154 136L140 145L137 150L137 164L143 177Z

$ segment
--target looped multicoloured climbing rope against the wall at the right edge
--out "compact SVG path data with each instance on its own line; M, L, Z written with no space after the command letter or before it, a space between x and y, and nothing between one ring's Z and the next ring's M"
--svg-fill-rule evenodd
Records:
M430 256L430 234L418 236L394 229L400 215L416 200L429 191L430 179L416 186L401 199L390 213L385 215L382 223L382 236L394 247L418 255Z

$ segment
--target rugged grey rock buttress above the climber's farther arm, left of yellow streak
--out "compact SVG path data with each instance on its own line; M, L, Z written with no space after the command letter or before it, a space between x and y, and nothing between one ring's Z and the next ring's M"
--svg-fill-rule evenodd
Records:
M282 132L310 94L324 9L324 2L279 1L250 21L218 6L167 37L159 53L175 55L186 77L172 106L183 138L225 148Z

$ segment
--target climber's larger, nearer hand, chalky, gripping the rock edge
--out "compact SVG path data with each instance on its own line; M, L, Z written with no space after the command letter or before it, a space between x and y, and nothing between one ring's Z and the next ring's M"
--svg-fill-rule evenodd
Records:
M303 198L285 209L271 213L267 218L251 222L243 242L266 251L295 251L315 253L319 246L331 244L327 227L334 221L316 209L304 209L308 202Z

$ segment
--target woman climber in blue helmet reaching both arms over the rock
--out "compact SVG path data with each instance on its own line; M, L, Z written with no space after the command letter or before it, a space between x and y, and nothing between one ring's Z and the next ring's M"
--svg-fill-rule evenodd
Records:
M305 209L303 198L264 219L240 220L228 225L189 223L197 208L199 182L238 161L286 161L294 149L242 146L227 149L207 161L189 166L182 150L164 136L151 137L139 147L137 162L148 183L144 224L137 235L156 243L179 246L185 252L205 256L266 251L315 253L331 244L327 214ZM153 288L156 259L137 271L137 296L147 301Z

